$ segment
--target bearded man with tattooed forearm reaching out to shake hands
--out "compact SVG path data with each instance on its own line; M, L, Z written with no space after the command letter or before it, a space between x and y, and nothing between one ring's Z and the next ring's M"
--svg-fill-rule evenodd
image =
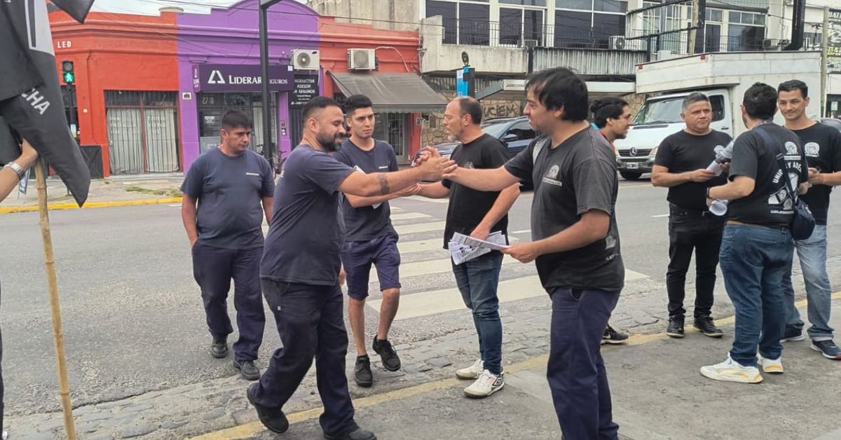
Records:
M441 178L450 161L431 158L420 167L365 174L336 161L329 153L345 133L339 104L313 98L302 109L304 137L280 172L272 225L266 237L260 278L283 347L272 355L260 380L247 390L262 424L286 432L283 405L298 388L315 358L324 413L324 437L374 440L353 420L347 391L347 331L339 287L340 252L345 225L339 193L372 197L399 191L424 179Z

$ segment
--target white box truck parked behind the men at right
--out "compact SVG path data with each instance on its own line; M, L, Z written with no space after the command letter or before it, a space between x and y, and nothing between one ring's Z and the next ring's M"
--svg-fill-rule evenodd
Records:
M754 82L773 87L790 79L806 82L812 98L807 114L819 117L820 64L819 51L777 51L710 53L638 65L637 94L648 98L634 116L627 138L614 143L619 173L622 178L635 180L651 172L660 141L685 128L681 107L692 92L710 98L711 128L733 137L745 130L742 98ZM780 114L775 119L782 122Z

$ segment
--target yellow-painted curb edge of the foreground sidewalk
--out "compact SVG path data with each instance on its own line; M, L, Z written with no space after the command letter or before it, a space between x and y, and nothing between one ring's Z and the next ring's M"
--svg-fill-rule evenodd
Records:
M841 300L841 292L835 292L832 294L833 300ZM798 300L795 302L795 306L797 308L805 307L807 305L807 300ZM721 319L715 320L717 326L726 326L736 322L736 316L726 316ZM689 330L690 332L694 332L694 330ZM628 337L628 341L625 344L621 345L607 345L602 346L607 350L617 350L622 349L622 347L632 347L637 345L647 344L648 342L654 341L666 341L669 340L669 337L666 335L665 332L659 333L651 333L651 334L638 334L632 335ZM513 363L511 365L505 366L505 373L506 374L515 374L517 372L532 369L532 368L539 368L546 365L549 359L548 354L541 354L535 356L533 358L527 358L521 362ZM438 390L447 390L448 388L452 388L457 386L458 384L462 384L461 380L455 378L449 379L438 379L433 380L431 382L425 382L422 384L415 384L410 385L405 388L400 388L397 390L388 391L382 394L374 394L368 395L366 397L361 397L358 399L353 399L353 406L356 409L360 408L368 408L371 406L375 406L378 404L382 404L388 402L389 400L395 399L405 399L407 397L412 397L415 395L426 394L432 391ZM311 419L315 419L316 417L320 416L320 414L324 412L324 407L318 406L315 408L310 408L309 410L294 412L291 414L287 414L287 419L289 424L292 425L294 423L298 423L300 421L307 421ZM632 427L636 428L636 426ZM235 440L241 438L248 438L257 435L260 432L265 432L266 427L263 426L262 422L260 421L251 421L242 425L235 425L234 427L229 427L225 429L220 429L214 432L206 432L204 434L200 434L193 437L188 437L188 440ZM636 430L634 430L636 431ZM643 437L644 438L644 437Z

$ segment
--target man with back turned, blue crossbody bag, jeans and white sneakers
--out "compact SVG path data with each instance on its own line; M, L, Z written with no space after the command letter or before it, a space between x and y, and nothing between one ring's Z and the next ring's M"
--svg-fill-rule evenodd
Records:
M724 286L736 310L727 359L701 367L701 374L710 379L755 384L762 381L757 365L765 373L783 372L782 280L791 270L797 192L806 191L808 175L800 140L772 120L776 109L774 87L757 82L748 88L742 119L749 131L733 142L729 181L706 190L707 204L730 201L720 259Z

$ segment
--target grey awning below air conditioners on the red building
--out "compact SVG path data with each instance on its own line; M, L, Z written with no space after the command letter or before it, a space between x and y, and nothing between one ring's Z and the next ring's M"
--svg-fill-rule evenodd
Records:
M341 93L371 98L374 110L380 113L428 113L447 107L447 99L414 73L330 74Z

